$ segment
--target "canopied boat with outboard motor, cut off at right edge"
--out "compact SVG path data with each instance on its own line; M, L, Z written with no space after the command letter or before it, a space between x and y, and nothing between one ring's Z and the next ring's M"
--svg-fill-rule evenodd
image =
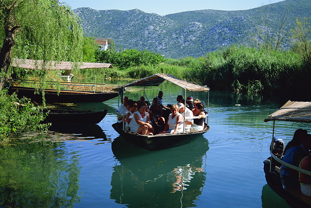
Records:
M283 162L284 141L281 137L274 135L275 121L311 123L311 102L288 101L264 121L273 121L272 142L270 145L271 157L263 162L269 187L292 207L311 207L311 197L304 196L300 189L285 190L283 188L280 178L281 164L308 175L311 175L311 172Z

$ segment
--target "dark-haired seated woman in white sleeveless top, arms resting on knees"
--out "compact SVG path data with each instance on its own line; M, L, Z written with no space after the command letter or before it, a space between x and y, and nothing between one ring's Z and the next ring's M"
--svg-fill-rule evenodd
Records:
M129 124L131 131L142 135L153 135L149 114L146 112L146 103L139 103L138 111L133 113L132 120Z

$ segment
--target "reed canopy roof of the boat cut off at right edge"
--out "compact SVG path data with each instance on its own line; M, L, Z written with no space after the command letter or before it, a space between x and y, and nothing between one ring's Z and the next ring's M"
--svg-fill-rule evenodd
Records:
M311 123L311 102L287 101L264 121L292 121Z

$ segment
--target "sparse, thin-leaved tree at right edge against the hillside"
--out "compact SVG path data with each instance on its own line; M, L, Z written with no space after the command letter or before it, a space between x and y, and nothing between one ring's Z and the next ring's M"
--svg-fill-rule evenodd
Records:
M311 67L311 24L310 18L296 19L295 29L292 31L292 39L295 42L294 51L301 55L306 66Z

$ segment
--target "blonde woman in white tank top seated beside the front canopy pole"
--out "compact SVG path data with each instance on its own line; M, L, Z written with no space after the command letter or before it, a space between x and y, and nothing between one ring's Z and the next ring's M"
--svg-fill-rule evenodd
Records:
M174 104L170 109L172 113L169 114L164 130L159 132L159 134L177 134L183 132L183 116L178 112L178 106Z

